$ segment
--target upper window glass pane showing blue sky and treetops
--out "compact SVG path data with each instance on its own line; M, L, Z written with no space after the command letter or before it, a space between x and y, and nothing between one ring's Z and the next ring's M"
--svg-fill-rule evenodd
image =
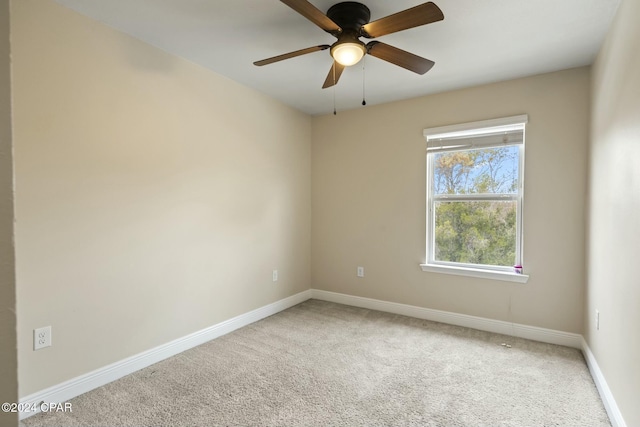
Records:
M434 194L518 192L518 146L434 154Z

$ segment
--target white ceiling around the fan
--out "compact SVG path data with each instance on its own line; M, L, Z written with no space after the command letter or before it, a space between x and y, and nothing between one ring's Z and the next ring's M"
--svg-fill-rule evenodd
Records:
M163 50L312 115L333 111L321 89L329 51L254 61L335 38L278 0L56 0ZM326 10L339 0L310 0ZM371 20L422 0L362 0ZM444 21L380 37L435 61L425 75L366 56L368 105L591 64L620 0L434 0ZM365 40L366 41L366 40ZM360 64L335 89L338 110L361 108Z

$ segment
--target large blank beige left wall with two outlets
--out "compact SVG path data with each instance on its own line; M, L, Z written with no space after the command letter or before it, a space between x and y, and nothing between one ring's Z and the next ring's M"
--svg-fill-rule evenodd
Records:
M50 0L12 27L21 396L309 288L308 116Z

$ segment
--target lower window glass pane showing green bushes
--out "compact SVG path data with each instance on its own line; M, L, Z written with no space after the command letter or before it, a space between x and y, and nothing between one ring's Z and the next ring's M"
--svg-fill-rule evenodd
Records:
M516 201L434 203L436 261L511 267L516 262Z

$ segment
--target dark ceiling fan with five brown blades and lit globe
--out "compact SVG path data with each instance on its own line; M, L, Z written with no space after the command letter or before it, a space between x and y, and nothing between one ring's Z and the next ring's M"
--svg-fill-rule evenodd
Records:
M440 8L432 2L427 2L369 22L371 18L369 8L354 1L334 4L329 8L326 15L307 0L280 1L324 31L336 37L338 41L332 45L323 44L312 46L263 59L254 62L254 65L262 66L272 64L285 59L295 58L296 56L306 55L307 53L330 49L331 56L333 57L333 65L322 85L323 89L337 84L345 67L357 64L365 54L375 56L376 58L418 74L426 73L434 65L433 61L386 43L370 41L364 44L360 41L360 37L372 39L443 20L444 14Z

